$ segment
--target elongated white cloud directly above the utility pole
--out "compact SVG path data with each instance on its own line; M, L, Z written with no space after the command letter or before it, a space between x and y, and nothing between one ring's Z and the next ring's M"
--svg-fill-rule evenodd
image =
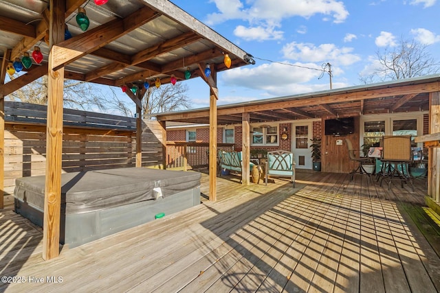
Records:
M351 65L360 60L360 56L352 54L353 48L338 48L334 44L321 44L316 47L309 43L292 42L283 47L284 58L302 62L331 62L338 65Z

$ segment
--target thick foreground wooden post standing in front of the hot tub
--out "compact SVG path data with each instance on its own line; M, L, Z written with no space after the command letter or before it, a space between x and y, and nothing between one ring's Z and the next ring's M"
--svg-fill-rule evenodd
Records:
M43 220L43 259L59 255L61 213L61 163L63 150L64 67L53 70L54 44L64 40L65 1L50 1L50 52L47 72L46 173Z

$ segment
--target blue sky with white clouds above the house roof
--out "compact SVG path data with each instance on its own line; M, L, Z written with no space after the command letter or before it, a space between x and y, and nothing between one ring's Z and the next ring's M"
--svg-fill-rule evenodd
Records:
M173 0L232 43L256 65L219 73L218 104L362 84L376 51L414 38L440 61L440 0ZM268 62L265 60L272 60ZM280 64L285 63L288 65ZM291 66L297 65L297 66ZM192 108L209 106L208 86L186 81Z

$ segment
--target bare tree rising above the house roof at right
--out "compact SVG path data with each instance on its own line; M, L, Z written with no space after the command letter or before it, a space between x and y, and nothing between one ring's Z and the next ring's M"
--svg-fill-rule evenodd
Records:
M360 76L364 84L414 78L440 71L440 63L432 58L428 45L417 43L414 39L401 38L397 46L378 50L376 56L377 65L373 72Z

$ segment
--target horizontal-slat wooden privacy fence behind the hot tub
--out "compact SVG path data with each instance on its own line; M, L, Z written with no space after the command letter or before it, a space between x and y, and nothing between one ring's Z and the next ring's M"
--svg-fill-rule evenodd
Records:
M5 194L16 178L45 174L46 110L5 102ZM63 172L135 166L135 118L64 109L63 120ZM142 166L161 163L162 127L144 120Z

